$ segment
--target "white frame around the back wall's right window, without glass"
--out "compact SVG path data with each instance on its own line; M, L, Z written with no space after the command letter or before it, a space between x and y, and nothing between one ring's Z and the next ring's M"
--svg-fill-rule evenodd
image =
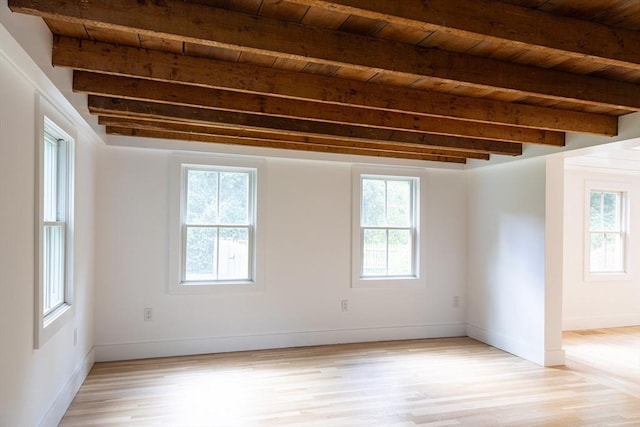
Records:
M357 165L352 168L352 245L351 245L351 286L354 288L399 288L422 287L424 278L426 247L422 235L425 220L426 178L423 169L390 168L382 166ZM376 177L383 179L415 179L413 189L413 273L408 276L362 276L362 179Z

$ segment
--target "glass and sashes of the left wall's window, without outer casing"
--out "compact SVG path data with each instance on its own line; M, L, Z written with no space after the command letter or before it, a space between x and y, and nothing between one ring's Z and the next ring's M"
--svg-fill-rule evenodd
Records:
M48 121L42 148L42 314L67 303L69 142Z

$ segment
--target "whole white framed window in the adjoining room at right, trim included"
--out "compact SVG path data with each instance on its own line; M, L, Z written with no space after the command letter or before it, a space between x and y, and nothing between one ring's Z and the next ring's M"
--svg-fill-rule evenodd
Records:
M628 186L587 183L585 275L589 280L628 276Z

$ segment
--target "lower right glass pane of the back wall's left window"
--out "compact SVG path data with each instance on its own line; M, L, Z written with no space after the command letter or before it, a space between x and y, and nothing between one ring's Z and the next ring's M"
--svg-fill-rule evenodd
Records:
M221 228L218 252L218 279L249 279L249 230Z

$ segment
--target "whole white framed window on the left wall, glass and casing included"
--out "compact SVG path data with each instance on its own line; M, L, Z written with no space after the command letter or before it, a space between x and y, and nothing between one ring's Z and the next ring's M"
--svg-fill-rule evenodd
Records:
M38 132L35 348L73 314L74 139L61 122L44 116Z

